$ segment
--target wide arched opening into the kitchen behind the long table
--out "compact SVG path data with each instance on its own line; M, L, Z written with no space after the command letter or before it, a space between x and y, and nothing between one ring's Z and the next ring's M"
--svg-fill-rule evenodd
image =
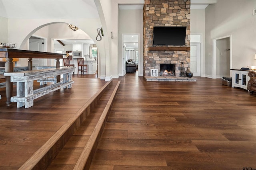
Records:
M44 52L60 53L60 51L64 51L65 54L66 51L71 51L71 55L73 55L73 51L79 51L80 56L73 56L74 60L77 57L84 58L89 65L88 74L96 74L95 77L98 77L98 55L95 57L95 54L92 55L92 53L90 53L92 49L95 50L95 48L97 48L97 42L94 42L82 29L74 31L68 27L67 23L63 22L48 23L31 31L20 45L20 49L36 51L30 49L30 37L44 39ZM76 63L76 61L74 62ZM26 61L21 61L19 64L24 65L26 63ZM55 64L54 59L44 59L42 63L43 65Z

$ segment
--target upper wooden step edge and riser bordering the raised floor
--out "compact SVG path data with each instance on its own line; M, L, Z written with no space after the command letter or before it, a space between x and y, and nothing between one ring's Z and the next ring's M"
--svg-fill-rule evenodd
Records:
M68 142L70 137L82 125L90 111L100 102L104 92L112 86L112 81L107 82L94 94L40 149L38 149L19 170L46 169Z

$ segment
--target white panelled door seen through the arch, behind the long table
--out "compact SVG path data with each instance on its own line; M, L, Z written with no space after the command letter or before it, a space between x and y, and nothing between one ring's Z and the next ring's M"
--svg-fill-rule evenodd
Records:
M29 50L30 51L43 51L44 40L36 37L29 38ZM35 66L43 66L44 62L43 59L32 59L32 66L33 69Z

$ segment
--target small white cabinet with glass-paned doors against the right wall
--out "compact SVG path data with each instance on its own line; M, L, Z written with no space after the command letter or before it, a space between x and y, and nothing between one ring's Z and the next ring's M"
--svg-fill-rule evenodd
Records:
M232 70L232 87L239 87L247 90L247 83L249 81L248 72L250 70Z

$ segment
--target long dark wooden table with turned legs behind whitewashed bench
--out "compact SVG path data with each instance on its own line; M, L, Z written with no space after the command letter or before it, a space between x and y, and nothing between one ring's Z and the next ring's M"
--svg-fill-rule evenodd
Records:
M56 59L56 67L60 67L60 59L65 54L48 53L39 51L28 51L19 49L0 48L0 58L5 58L5 72L13 72L13 58L28 59L28 70L32 70L32 59ZM57 82L60 82L60 76L57 76ZM6 76L6 104L10 106L13 91L13 82L10 81L10 76Z

